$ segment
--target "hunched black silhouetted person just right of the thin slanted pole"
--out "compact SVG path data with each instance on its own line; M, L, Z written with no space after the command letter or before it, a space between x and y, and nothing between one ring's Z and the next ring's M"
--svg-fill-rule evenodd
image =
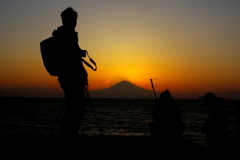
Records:
M149 123L152 136L159 136L164 141L175 141L181 138L184 124L177 103L171 93L161 93L152 109L153 121Z

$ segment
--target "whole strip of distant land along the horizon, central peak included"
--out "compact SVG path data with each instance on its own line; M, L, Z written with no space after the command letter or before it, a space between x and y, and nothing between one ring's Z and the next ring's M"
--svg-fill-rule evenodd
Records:
M240 100L240 91L216 91L214 92L218 97L223 97L225 100ZM155 99L153 91L140 88L128 81L119 82L113 86L106 89L89 90L91 98L118 98L118 99ZM156 93L159 97L160 92ZM201 95L201 96L199 96ZM204 92L192 93L174 93L172 96L175 99L204 99ZM43 97L43 98L63 98L64 93L59 87L59 89L48 89L42 87L27 87L27 88L12 88L3 89L0 88L0 97Z

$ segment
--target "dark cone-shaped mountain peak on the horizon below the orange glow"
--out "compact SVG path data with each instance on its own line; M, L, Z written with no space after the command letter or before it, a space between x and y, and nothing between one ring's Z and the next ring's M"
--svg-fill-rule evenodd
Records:
M122 81L112 87L91 91L92 98L122 98L122 99L153 99L152 91L137 87L136 85Z

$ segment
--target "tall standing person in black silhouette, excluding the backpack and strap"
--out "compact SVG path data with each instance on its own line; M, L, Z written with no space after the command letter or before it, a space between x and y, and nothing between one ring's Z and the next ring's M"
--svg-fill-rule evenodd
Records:
M58 40L59 55L62 56L62 72L58 81L65 94L66 109L62 117L60 135L77 135L85 112L85 90L87 72L82 63L83 50L78 45L75 32L78 14L71 7L61 13L61 27L53 31Z

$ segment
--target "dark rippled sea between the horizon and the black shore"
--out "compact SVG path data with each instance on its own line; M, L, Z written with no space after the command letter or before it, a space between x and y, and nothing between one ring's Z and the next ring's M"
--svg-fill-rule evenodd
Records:
M202 100L176 100L186 128L182 136L206 146L201 127L208 115ZM64 98L0 98L0 135L59 135ZM153 99L87 100L79 134L87 136L149 136ZM224 100L229 141L239 141L240 100ZM94 117L96 113L97 119ZM98 123L97 123L98 122Z

